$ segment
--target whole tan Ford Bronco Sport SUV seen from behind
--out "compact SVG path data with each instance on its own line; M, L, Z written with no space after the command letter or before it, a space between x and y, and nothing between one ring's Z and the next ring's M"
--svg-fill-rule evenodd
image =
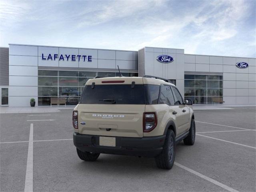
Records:
M74 145L80 159L100 153L154 157L171 169L175 145L195 142L192 101L170 80L154 76L90 79L73 111Z

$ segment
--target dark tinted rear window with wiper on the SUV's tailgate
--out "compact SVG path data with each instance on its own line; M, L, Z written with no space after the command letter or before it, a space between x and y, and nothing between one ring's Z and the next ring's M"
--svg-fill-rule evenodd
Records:
M103 101L105 100L105 101ZM112 100L112 101L111 101ZM135 84L86 85L80 104L145 104L144 86Z

